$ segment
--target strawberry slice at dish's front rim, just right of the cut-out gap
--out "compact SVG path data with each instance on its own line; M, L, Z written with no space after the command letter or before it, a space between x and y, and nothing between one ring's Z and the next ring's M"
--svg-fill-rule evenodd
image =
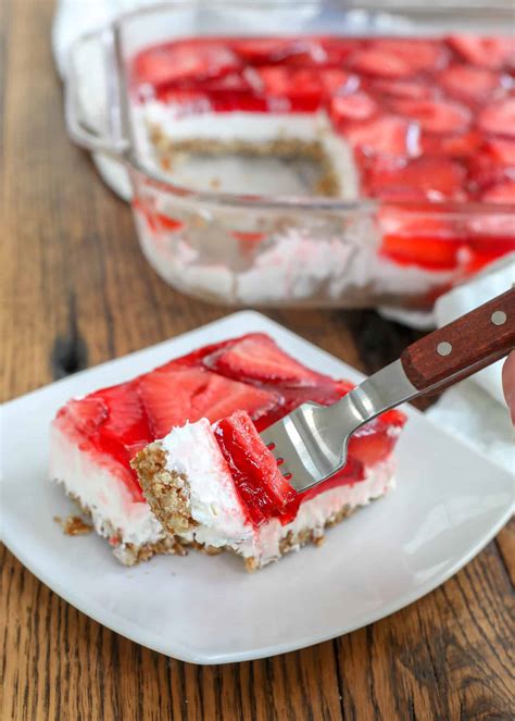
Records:
M369 171L368 190L391 200L463 200L466 171L443 158L418 158L403 167Z

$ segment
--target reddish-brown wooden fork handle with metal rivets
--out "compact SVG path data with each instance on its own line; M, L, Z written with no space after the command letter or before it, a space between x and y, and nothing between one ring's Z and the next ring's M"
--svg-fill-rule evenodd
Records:
M441 390L515 347L515 288L409 346L401 362L418 390Z

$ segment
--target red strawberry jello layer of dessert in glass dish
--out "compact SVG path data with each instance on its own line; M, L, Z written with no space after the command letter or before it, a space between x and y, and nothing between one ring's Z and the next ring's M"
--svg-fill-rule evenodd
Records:
M197 112L323 109L351 146L363 197L515 204L515 39L449 36L185 38L138 53L136 97ZM493 211L490 211L493 213ZM381 253L474 272L515 250L508 209L482 231L448 215L384 229Z

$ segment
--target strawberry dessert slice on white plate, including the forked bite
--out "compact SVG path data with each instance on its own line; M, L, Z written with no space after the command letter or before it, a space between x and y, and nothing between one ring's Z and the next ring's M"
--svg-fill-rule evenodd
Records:
M357 432L343 471L303 494L259 436L304 400L351 388L264 334L206 346L68 401L52 425L51 477L127 565L193 546L233 550L253 570L392 487L399 411Z

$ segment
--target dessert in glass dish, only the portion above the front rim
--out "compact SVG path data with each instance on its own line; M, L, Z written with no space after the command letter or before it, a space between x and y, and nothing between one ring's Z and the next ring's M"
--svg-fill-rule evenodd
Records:
M133 82L165 167L173 149L305 153L328 195L502 201L514 67L511 38L210 37L145 50Z

